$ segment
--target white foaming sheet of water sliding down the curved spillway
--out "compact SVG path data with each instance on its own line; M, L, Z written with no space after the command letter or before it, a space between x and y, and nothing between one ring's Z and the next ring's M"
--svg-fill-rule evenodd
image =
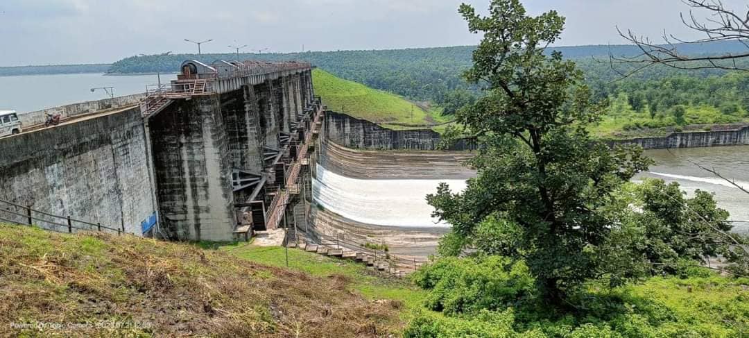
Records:
M410 228L449 227L431 217L434 208L426 196L437 193L441 182L453 192L467 187L465 180L362 180L348 178L317 166L312 182L315 201L323 208L361 223Z

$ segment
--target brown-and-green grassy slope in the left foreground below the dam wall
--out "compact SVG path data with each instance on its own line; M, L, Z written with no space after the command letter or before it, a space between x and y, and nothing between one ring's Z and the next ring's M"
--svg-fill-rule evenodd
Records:
M0 226L0 337L372 337L404 325L408 297L383 300L402 286L348 265L320 262L312 276L255 258L279 265L283 251ZM304 259L324 258L292 253Z

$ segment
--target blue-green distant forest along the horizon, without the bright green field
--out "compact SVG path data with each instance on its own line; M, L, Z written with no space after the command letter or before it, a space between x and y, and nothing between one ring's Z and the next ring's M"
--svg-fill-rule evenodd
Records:
M694 43L678 46L685 55L703 53L736 52L746 47L739 42ZM372 88L391 91L412 100L425 100L437 103L452 114L478 96L482 83L468 84L462 79L465 70L471 67L471 55L476 46L452 46L437 48L358 50L336 52L301 52L240 54L241 59L261 59L267 61L309 61L330 73L345 79L363 83ZM672 67L649 67L633 73L637 64L610 62L610 55L637 55L636 46L571 46L555 47L565 58L574 59L577 67L585 73L586 82L594 89L596 97L616 96L624 92L631 97L634 109L642 109L644 103L651 108L670 109L672 106L689 103L708 103L715 106L724 104L724 98L711 97L722 84L737 84L733 79L718 79L726 71L720 69L698 69L684 72ZM551 50L548 50L549 54ZM109 73L155 73L176 72L187 59L198 59L206 63L217 59L234 60L236 54L177 54L157 57L156 55L133 56L117 61L109 67ZM748 61L745 62L749 65ZM697 63L695 63L697 64ZM624 75L628 75L622 79ZM712 78L709 82L699 79ZM691 80L690 80L691 79ZM641 82L646 82L641 85ZM671 86L671 89L667 87ZM704 91L711 86L709 91ZM644 88L643 88L644 87ZM647 89L645 89L647 88ZM743 87L732 85L732 91ZM663 89L663 90L661 90ZM647 91L647 93L646 93ZM658 92L656 92L658 91ZM732 94L733 95L733 94ZM647 97L648 99L642 99ZM719 102L720 101L720 102ZM730 100L736 104L737 100ZM728 108L727 108L728 109Z

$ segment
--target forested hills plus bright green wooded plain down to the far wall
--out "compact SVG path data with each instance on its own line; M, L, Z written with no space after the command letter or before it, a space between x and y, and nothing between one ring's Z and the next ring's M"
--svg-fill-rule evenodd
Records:
M685 55L740 52L739 42L679 44ZM482 82L468 84L464 72L472 64L476 46L436 48L350 50L287 54L242 54L243 59L267 61L309 61L333 75L360 82L372 88L390 91L410 100L429 101L443 107L445 115L454 114L479 96ZM610 106L602 121L592 130L602 136L628 137L643 133L667 133L687 124L726 124L747 121L749 102L742 92L749 89L749 76L727 75L726 70L679 70L667 66L647 67L633 73L640 64L610 61L635 56L636 46L565 46L548 49L562 52L574 60L585 74L596 100L608 100ZM130 57L117 61L109 73L153 73L174 71L185 59L198 55ZM201 61L235 59L235 54L204 54ZM158 61L158 62L157 62ZM749 61L739 65L749 67ZM643 131L648 130L648 131Z

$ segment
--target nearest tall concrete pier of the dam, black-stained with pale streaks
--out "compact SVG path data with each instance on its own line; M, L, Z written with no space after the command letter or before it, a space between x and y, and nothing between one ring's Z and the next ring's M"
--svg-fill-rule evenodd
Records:
M161 229L176 240L231 240L230 137L219 95L178 100L148 125Z

